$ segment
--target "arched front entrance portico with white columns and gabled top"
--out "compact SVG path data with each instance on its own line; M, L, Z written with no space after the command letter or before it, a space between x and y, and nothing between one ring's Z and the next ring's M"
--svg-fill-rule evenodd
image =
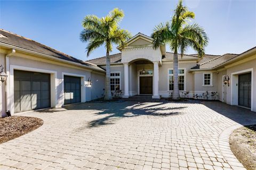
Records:
M138 33L138 35L127 41L127 46L124 48L117 47L122 52L121 62L124 65L123 98L150 93L152 98L160 98L158 94L158 66L162 64L162 56L165 56L165 48L163 46L154 49L152 42L153 39L151 37ZM150 75L153 78L140 79L140 77L146 75L138 74L139 70L153 71L154 75ZM140 84L140 81L143 83L142 87L140 85L136 87L136 84Z

